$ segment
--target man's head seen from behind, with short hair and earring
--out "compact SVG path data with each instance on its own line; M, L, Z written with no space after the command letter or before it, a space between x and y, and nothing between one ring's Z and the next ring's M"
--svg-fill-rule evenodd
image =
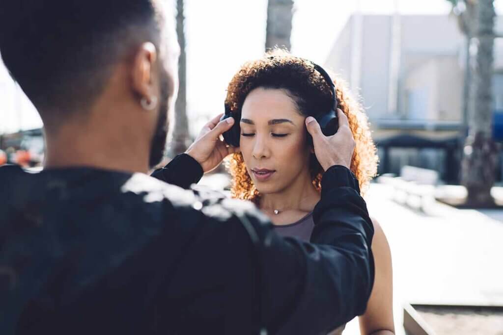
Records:
M171 15L160 4L8 1L0 5L0 32L4 63L48 136L69 124L98 126L110 136L121 128L124 144L148 142L150 165L160 160L179 53Z

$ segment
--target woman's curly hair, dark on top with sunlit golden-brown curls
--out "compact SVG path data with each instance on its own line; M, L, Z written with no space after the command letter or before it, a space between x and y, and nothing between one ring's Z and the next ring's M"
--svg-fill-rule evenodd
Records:
M338 107L348 117L349 127L356 142L350 169L358 178L363 195L370 180L377 173L376 147L364 109L349 94L349 89L342 79L335 79L334 84ZM260 59L246 62L230 81L225 103L230 108L236 124L241 117L244 99L250 91L258 87L284 89L294 100L300 114L305 117L315 116L316 110L331 108L330 88L323 76L314 69L313 63L282 49L274 49ZM246 171L243 155L230 155L226 158L225 165L232 176L232 197L258 203L260 193ZM312 183L319 191L324 171L314 154L311 155L309 169Z

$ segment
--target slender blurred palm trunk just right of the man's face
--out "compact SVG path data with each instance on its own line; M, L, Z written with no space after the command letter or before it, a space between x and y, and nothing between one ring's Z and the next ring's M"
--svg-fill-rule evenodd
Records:
M178 98L175 103L175 125L173 128L173 140L168 156L175 157L187 150L190 144L189 123L187 120L187 98L186 98L186 56L185 56L185 17L184 0L177 0L177 35L180 44L180 58L178 60L178 77L180 87Z

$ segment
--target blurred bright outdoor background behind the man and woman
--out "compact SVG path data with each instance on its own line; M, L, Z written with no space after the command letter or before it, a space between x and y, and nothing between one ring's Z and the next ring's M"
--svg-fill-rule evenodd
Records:
M243 62L279 45L322 64L371 122L380 163L366 200L391 246L396 333L423 334L409 319L428 323L431 304L494 308L439 312L452 329L425 334L503 334L503 0L165 1L182 47L166 160L223 112ZM0 165L40 166L42 127L0 63ZM481 330L494 317L494 332Z

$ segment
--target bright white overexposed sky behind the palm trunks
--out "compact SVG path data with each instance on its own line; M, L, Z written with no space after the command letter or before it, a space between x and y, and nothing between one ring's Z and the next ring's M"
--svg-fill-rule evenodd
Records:
M174 0L166 0L174 3ZM503 0L496 0L503 13ZM364 14L445 14L447 0L294 0L292 53L323 64L339 32L359 8ZM185 0L187 114L191 133L223 112L225 90L247 60L264 53L267 0ZM21 110L21 113L19 111ZM42 126L0 63L0 133Z

